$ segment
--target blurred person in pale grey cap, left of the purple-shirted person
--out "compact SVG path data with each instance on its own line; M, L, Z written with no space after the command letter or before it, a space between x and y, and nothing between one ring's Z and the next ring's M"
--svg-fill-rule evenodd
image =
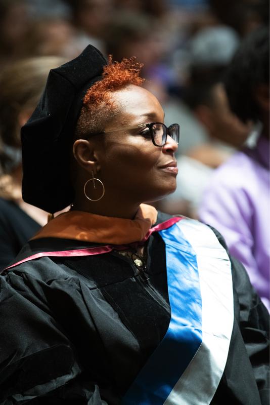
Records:
M201 29L190 41L189 77L183 99L217 149L222 149L222 144L242 146L251 131L251 123L242 123L231 111L221 83L238 46L237 33L220 25Z

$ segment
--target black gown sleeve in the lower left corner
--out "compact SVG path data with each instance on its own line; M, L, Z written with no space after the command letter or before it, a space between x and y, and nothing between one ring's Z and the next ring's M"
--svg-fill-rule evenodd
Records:
M61 297L60 297L61 299ZM106 405L53 316L42 282L0 276L0 404Z

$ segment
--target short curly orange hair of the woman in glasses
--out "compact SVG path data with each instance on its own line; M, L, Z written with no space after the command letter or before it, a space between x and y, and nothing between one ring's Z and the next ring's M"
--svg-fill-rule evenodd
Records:
M90 133L104 131L105 126L121 112L110 94L128 85L141 86L144 82L140 77L142 67L143 64L136 62L135 57L113 62L112 56L109 56L102 79L91 86L84 96L77 121L76 137L87 137Z

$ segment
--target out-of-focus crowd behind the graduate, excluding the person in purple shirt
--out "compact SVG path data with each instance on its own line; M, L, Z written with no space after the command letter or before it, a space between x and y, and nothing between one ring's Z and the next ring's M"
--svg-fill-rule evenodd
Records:
M231 111L222 78L243 39L268 23L268 0L0 0L0 197L32 220L22 225L16 249L47 221L21 199L19 133L51 68L88 44L114 60L143 62L144 86L160 100L165 124L181 127L177 190L158 208L203 219L213 172L244 145L256 145L261 132L259 120ZM18 238L18 224L14 232Z

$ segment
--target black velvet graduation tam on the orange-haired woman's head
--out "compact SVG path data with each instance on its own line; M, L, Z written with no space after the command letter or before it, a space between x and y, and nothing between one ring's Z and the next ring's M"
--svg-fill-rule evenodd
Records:
M26 203L54 213L72 203L70 150L86 91L102 78L106 59L95 47L52 69L41 99L21 129Z

